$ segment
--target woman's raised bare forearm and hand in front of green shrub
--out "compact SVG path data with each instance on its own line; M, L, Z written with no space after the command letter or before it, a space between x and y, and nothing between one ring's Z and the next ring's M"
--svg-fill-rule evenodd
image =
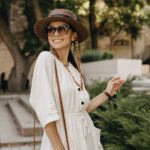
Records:
M113 77L107 84L105 91L109 93L110 96L113 96L123 85L125 81L120 77ZM100 93L96 97L94 97L91 101L89 106L87 107L87 112L91 112L108 100L108 96L105 93Z

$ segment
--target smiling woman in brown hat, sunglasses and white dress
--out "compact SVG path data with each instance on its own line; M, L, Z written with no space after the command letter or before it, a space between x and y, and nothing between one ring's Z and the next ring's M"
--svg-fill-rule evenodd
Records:
M76 46L78 42L86 40L88 32L72 11L54 9L47 18L36 22L34 29L37 36L48 41L51 47L51 51L41 52L37 58L29 99L44 129L41 150L68 149L58 104L54 62L60 83L69 149L102 150L100 130L94 127L88 113L113 96L124 81L120 77L112 78L105 91L90 101ZM77 63L71 53L71 45L77 51Z

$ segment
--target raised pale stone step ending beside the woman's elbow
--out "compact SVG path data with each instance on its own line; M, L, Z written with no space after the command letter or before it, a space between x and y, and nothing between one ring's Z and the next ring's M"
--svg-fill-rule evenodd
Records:
M20 133L23 136L33 136L34 135L34 116L30 113L23 105L21 100L8 101L9 109L11 110L15 121L19 127ZM35 120L36 127L35 132L41 135L43 130L40 123Z

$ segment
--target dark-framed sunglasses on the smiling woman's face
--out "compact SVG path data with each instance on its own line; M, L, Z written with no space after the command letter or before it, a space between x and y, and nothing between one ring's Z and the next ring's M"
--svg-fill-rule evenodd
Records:
M45 31L48 33L48 36L53 36L57 31L60 35L66 35L69 31L70 26L68 24L61 25L58 27L46 26Z

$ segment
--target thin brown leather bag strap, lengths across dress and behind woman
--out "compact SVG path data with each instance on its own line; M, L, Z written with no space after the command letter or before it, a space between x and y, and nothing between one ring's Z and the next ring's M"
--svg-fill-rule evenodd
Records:
M61 96L61 89L60 89L60 84L59 84L59 78L58 78L58 73L57 73L57 66L56 66L56 62L54 59L54 67L55 67L55 76L56 76L56 82L57 82L57 89L58 89L58 94L59 94L59 103L60 103L60 107L61 107L61 114L62 114L62 121L63 121L63 125L64 125L64 130L65 130L65 136L66 136L66 141L67 141L67 148L68 150L70 150L69 148L69 140L68 140L68 133L67 133L67 127L66 127L66 120L65 120L65 114L64 114L64 107L63 107L63 101L62 101L62 96ZM36 114L34 114L34 147L33 149L35 150L35 118L36 118Z

